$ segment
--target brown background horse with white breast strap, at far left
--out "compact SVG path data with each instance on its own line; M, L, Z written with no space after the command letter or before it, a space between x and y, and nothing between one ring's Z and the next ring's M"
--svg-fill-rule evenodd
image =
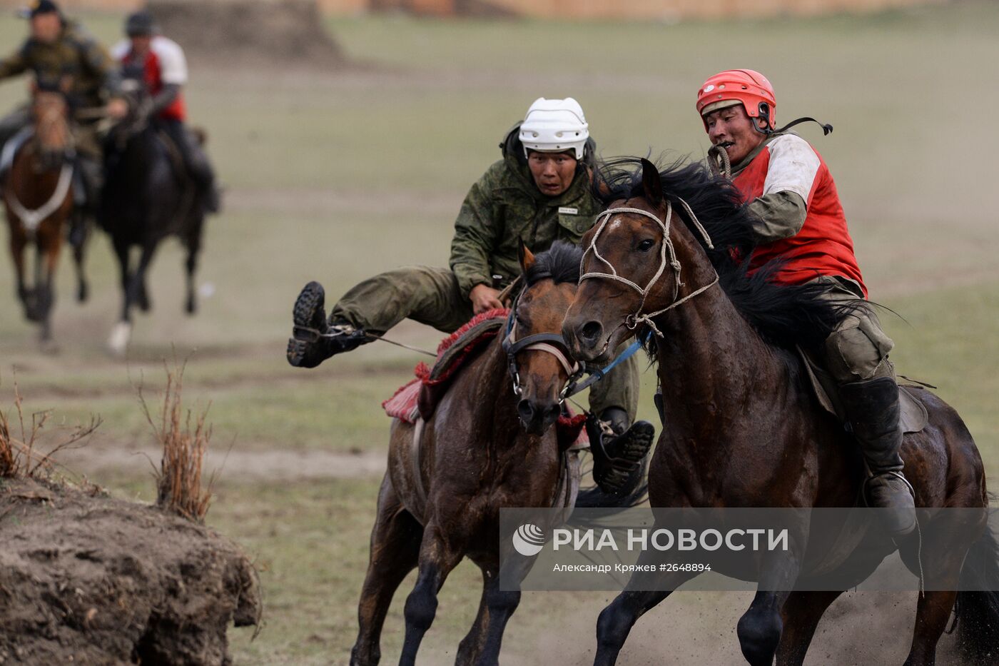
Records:
M53 280L63 227L73 214L73 136L68 113L61 92L34 92L31 137L14 155L3 190L17 297L24 305L27 319L41 324L43 341L52 337ZM25 281L24 252L32 244L36 250L35 274L29 288ZM83 247L81 243L74 248L77 300L81 302L87 299Z

